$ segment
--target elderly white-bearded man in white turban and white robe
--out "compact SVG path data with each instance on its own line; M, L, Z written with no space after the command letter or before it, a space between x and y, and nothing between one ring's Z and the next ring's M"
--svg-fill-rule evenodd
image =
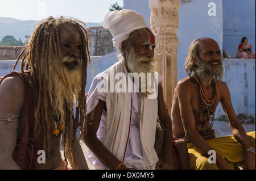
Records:
M121 53L96 75L87 97L88 160L96 169L173 169L172 125L156 73L155 36L142 15L111 11L104 28ZM164 124L162 159L154 149L157 116Z

